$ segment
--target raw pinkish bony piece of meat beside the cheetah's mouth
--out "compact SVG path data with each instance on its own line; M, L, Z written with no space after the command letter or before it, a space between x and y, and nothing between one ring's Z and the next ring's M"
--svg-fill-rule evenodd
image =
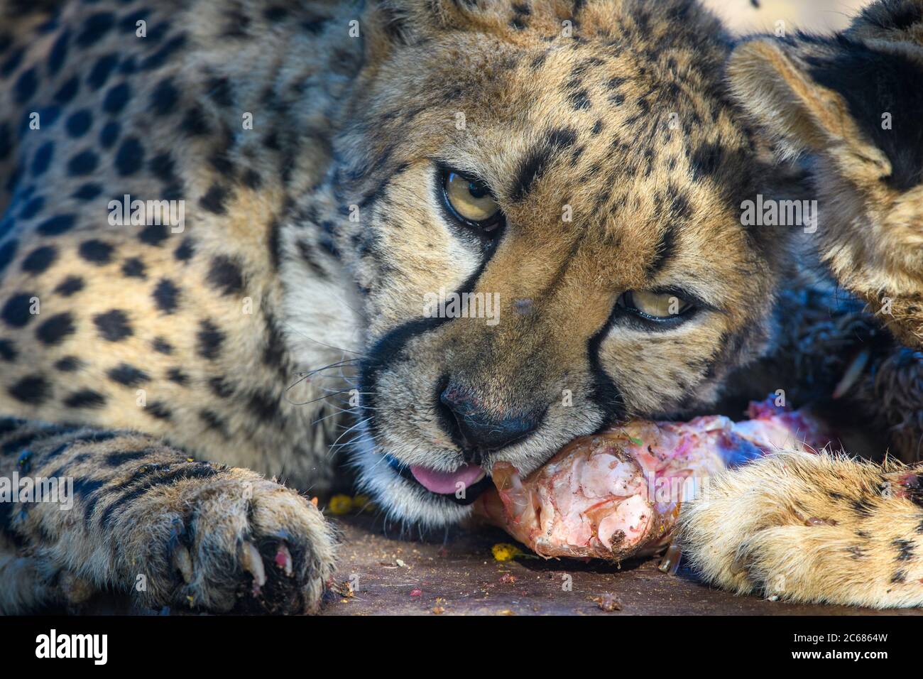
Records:
M634 420L576 439L527 478L498 462L475 514L546 558L621 560L661 549L680 503L707 478L778 448L818 450L832 442L803 411L772 398L751 403L748 420Z

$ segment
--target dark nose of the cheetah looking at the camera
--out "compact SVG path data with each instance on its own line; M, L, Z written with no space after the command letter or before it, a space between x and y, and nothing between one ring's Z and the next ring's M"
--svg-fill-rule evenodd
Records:
M497 416L488 412L476 397L452 385L439 394L439 401L448 411L443 418L447 429L470 464L481 464L485 453L525 438L538 426L539 418L532 415Z

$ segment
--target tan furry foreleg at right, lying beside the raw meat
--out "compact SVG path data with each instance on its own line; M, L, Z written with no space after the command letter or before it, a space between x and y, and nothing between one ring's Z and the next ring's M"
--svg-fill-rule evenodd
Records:
M923 467L769 455L713 479L679 537L709 583L802 602L923 606Z

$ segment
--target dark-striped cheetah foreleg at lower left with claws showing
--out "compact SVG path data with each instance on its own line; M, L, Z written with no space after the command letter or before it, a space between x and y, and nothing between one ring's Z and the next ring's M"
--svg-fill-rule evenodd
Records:
M0 432L0 477L18 477L20 499L23 479L45 489L59 479L31 498L43 502L0 503L3 612L103 588L150 608L318 607L336 536L296 492L142 434L18 419L0 419Z

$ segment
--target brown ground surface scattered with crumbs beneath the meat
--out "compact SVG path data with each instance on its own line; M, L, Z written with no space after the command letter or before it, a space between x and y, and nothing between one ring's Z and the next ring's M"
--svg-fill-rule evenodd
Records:
M622 564L542 559L498 563L491 547L509 542L495 528L457 532L439 540L386 536L365 515L341 521L345 543L338 588L352 580L351 597L330 597L324 615L861 615L868 609L801 606L757 597L735 597L697 582L680 568L676 576L657 560ZM562 586L572 578L572 588ZM594 598L611 595L621 610L604 612ZM921 612L905 612L920 614ZM893 614L891 612L890 614Z

